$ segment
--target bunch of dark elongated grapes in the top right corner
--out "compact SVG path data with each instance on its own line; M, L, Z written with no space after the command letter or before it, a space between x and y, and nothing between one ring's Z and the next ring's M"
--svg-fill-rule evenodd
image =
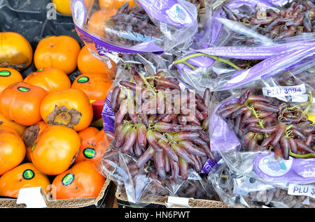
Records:
M311 1L293 1L290 7L282 8L279 12L272 8L264 9L255 6L255 13L251 17L240 17L230 8L226 6L222 8L228 19L242 22L272 39L312 33L315 30L315 5Z

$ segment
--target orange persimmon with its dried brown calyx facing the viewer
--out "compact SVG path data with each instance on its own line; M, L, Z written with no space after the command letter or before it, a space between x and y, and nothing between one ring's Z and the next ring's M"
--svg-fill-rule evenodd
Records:
M48 125L63 125L82 131L90 126L93 108L80 89L66 89L48 94L41 103L41 117Z

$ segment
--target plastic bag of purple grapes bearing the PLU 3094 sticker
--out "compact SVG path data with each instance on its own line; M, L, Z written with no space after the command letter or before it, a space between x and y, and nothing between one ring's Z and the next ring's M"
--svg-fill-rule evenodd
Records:
M314 50L310 46L269 57L221 79L214 89L211 149L235 172L279 188L314 183L314 124L309 119Z

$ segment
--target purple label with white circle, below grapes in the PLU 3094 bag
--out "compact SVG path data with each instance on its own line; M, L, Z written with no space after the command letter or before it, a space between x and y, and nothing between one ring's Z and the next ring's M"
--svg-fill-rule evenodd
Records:
M267 182L309 184L315 182L315 158L274 158L274 152L263 151L253 161L256 174Z

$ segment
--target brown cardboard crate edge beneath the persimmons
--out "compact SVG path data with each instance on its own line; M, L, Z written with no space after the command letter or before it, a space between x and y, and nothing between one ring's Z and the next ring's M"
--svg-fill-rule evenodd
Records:
M106 182L102 188L101 193L97 198L78 198L78 199L67 199L67 200L50 200L45 194L45 191L41 189L41 195L45 200L47 208L80 208L80 207L92 207L92 208L111 208L113 205L114 195L111 194L111 187L113 183L111 180L106 179ZM0 208L25 208L25 204L17 204L15 198L0 198Z

